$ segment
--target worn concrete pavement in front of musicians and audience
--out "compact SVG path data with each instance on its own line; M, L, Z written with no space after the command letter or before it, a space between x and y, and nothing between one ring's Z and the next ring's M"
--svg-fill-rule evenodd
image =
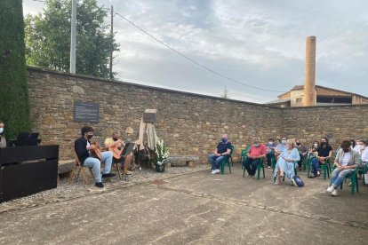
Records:
M198 171L0 213L1 244L368 244L368 187ZM286 179L285 179L286 180ZM362 182L359 181L359 184Z

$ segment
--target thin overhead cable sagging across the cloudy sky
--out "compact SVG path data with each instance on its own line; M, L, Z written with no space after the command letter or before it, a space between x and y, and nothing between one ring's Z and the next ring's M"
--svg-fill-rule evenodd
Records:
M222 75L214 70L212 70L211 68L209 67L205 67L204 65L196 62L196 60L194 59L190 59L188 58L188 56L182 54L180 51L176 51L174 50L172 47L170 47L169 45L167 45L166 43L162 42L161 40L157 39L155 36L152 36L151 34L149 34L147 31L145 31L144 29L140 28L139 26L137 26L136 24L134 24L131 20L128 20L126 19L123 15L121 15L120 13L118 12L115 12L116 15L120 16L121 18L123 18L124 20L126 20L127 22L129 22L130 24L132 24L133 27L135 28L138 28L140 29L140 31L142 31L143 33L147 34L148 36L152 37L153 39L155 39L158 43L161 43L163 44L166 48L170 49L171 51L175 52L176 54L179 54L181 57L183 57L184 59L188 59L190 62L196 64L197 66L199 67L202 67L204 68L205 70L215 74L215 75L219 75L220 77L222 78L225 78L225 79L228 79L229 81L233 82L233 83L238 83L238 84L241 84L241 85L244 85L246 87L250 87L252 89L256 89L256 90L260 90L260 91L272 91L272 92L285 92L285 91L273 91L273 90L268 90L268 89L262 89L262 88L259 88L259 87L256 87L256 86L252 86L252 85L249 85L249 84L246 84L246 83L242 83L242 82L239 82L239 81L236 81L235 79L232 79L230 77L228 77L227 75Z

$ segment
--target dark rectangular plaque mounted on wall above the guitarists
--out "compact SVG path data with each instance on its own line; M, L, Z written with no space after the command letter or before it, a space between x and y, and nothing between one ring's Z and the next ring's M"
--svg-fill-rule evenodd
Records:
M99 123L100 105L89 102L74 102L74 122Z

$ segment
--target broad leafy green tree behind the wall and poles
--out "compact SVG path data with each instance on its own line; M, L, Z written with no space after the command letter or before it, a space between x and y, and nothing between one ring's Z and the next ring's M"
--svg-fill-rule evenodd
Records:
M49 0L43 13L26 17L26 59L30 66L69 71L72 0ZM108 11L96 0L78 1L76 73L109 77L110 51L118 44L104 24Z

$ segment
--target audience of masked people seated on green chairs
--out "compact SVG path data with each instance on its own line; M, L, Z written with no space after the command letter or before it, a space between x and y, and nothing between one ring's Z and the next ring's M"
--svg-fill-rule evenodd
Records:
M342 141L334 159L332 146L328 138L325 137L321 138L320 141L315 140L310 147L304 146L300 138L294 140L282 137L277 138L276 142L273 138L269 138L268 142L263 144L260 138L253 138L244 162L242 162L244 169L248 172L248 178L254 178L261 159L265 160L264 162L266 162L268 169L270 169L272 161L275 160L276 166L273 171L274 184L280 185L281 179L286 177L290 179L289 183L292 186L297 186L294 179L295 170L296 168L302 169L301 160L303 158L305 158L306 162L309 162L313 171L309 178L319 177L321 165L326 164L327 161L333 161L332 185L327 188L326 192L338 195L337 188L344 178L351 176L356 168L358 170L357 178L362 178L367 171L368 140L363 138ZM212 174L220 172L220 162L222 162L224 155L230 154L230 151L231 143L228 141L228 135L223 135L214 153L209 155ZM329 170L329 168L324 168L324 170Z

